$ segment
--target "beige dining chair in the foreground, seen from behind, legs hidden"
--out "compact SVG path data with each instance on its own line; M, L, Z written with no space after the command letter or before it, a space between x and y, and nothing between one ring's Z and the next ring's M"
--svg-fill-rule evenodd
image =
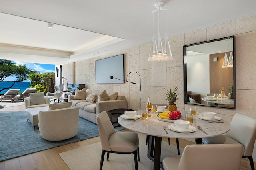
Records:
M163 160L164 170L239 170L241 144L187 145L182 156Z

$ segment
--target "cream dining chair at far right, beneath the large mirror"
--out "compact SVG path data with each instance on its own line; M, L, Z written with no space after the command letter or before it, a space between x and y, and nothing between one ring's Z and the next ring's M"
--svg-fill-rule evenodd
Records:
M256 138L256 119L248 115L236 113L230 122L230 131L224 135L202 138L204 144L230 144L239 143L243 146L242 158L248 158L252 170L254 163L252 152Z

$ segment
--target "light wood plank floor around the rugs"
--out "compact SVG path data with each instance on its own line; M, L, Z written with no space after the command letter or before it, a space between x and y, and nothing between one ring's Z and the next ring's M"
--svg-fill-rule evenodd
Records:
M4 103L0 103L4 105ZM0 107L0 113L8 113L14 111L25 111L24 104L19 103L17 105L12 104L9 107ZM128 131L128 130L124 130ZM168 139L162 139L168 142ZM193 144L191 141L180 139L180 147L184 148L186 145ZM66 152L68 150L84 147L93 143L100 142L99 137L94 137L86 139L84 141L79 141L71 143L68 145L63 145L60 147L43 150L33 154L28 154L25 156L20 156L18 158L13 158L10 160L0 162L0 170L69 170L65 162L60 158L59 153ZM172 145L176 146L176 140L171 139ZM1 145L1 144L0 144ZM100 162L99 162L100 163ZM255 164L256 162L254 162ZM256 168L256 166L255 166ZM250 170L250 163L247 158L242 158L241 170Z

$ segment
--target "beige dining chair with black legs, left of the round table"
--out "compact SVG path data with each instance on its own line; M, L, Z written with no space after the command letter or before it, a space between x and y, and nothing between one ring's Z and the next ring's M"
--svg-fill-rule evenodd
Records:
M135 132L116 133L106 111L98 114L97 122L102 147L100 170L102 170L106 152L107 160L110 153L134 154L135 169L138 170L138 161L140 161L138 134Z

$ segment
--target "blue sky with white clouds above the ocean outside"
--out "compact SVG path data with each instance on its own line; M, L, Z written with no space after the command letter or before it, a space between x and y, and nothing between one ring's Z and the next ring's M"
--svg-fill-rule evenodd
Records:
M27 68L31 70L36 70L40 73L46 73L46 72L55 72L55 65L51 64L38 64L38 63L26 63L21 61L14 61L16 65L25 64ZM14 81L15 77L8 77L5 78L4 81ZM28 80L25 80L28 81Z

